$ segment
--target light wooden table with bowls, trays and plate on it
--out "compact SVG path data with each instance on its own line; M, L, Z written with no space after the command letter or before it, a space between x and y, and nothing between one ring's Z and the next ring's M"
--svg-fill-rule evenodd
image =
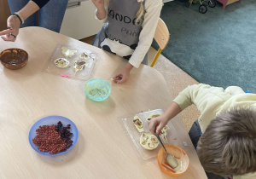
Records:
M125 115L168 107L172 96L160 72L142 65L132 70L127 83L112 83L107 101L90 101L84 81L42 72L57 43L96 52L94 78L108 79L125 66L116 55L40 27L21 29L15 43L0 39L0 51L20 48L29 55L20 70L1 65L0 178L172 178L160 171L156 159L142 165L120 122ZM68 153L49 157L32 149L28 132L39 118L53 114L73 120L79 140ZM181 118L173 124L188 143L180 147L190 161L189 169L175 178L207 178Z

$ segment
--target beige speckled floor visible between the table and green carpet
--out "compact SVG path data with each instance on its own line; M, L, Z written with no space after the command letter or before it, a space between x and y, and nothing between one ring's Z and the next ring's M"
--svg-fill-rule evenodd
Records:
M81 39L84 43L92 43L95 36ZM150 48L148 51L148 64L154 59L156 50ZM156 61L154 68L162 73L166 79L166 84L172 94L173 98L178 95L178 93L191 84L198 84L198 82L189 76L186 72L183 72L178 66L174 65L172 61L169 61L164 55L160 55ZM181 113L183 118L183 123L186 129L189 131L191 125L194 123L195 119L199 118L200 113L197 111L195 105L186 108Z

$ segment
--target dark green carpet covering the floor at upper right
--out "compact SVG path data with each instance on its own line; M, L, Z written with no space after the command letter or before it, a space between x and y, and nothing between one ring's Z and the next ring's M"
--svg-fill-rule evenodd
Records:
M256 0L231 3L224 10L217 3L206 14L198 8L165 3L160 17L169 28L170 42L162 55L200 83L236 85L256 93Z

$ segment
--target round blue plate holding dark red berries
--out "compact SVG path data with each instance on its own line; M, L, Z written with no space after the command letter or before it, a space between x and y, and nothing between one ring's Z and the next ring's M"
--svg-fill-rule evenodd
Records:
M32 141L32 139L35 138L35 136L37 136L36 130L38 130L40 125L52 125L52 124L56 125L59 121L61 121L61 123L63 124L64 127L66 127L67 124L71 124L71 126L70 126L71 129L69 131L71 133L73 133L73 135L71 136L73 145L71 147L67 148L67 150L62 153L49 154L49 152L44 152L44 153L40 152L38 150L38 146L36 146ZM29 141L31 147L38 153L41 153L43 155L48 155L48 156L56 156L56 155L61 155L63 153L67 153L74 147L74 145L78 141L78 138L79 138L79 130L78 130L77 126L70 119L65 118L63 116L47 116L44 118L40 118L35 124L32 125L32 128L29 130L29 134L28 134L28 141Z

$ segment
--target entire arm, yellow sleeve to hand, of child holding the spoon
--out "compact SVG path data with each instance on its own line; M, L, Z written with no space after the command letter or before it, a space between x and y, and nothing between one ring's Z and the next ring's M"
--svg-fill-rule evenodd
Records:
M150 120L149 130L154 132L153 127L155 126L156 132L160 132L170 119L174 118L177 113L183 111L183 109L189 107L191 104L195 104L197 109L201 112L201 120L210 121L215 117L224 101L229 98L230 94L225 93L224 90L219 87L212 87L208 84L194 84L188 86L177 95L163 115ZM207 121L204 122L204 126L207 125Z

